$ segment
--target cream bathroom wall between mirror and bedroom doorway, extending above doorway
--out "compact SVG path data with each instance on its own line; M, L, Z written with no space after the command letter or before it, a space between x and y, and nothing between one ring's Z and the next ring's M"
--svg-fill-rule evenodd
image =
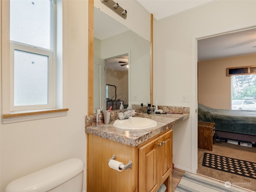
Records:
M196 38L256 26L255 10L256 1L214 1L155 25L154 101L190 107L190 118L173 127L173 162L178 168L196 172L197 166ZM182 102L182 94L190 94L190 102Z

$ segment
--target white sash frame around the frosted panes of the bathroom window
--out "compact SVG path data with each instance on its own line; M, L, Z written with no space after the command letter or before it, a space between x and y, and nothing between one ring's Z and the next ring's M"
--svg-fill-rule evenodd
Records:
M6 10L6 15L3 15L5 21L8 22L8 26L10 26L10 1L6 1L6 4L8 4L8 9ZM3 5L2 7L5 7L5 5ZM9 41L9 46L10 46L10 52L8 55L10 55L10 102L9 102L9 107L6 106L6 108L8 108L8 110L5 113L10 113L10 112L14 112L14 111L20 111L20 110L34 110L34 109L46 109L46 108L55 108L55 98L56 98L56 94L55 94L55 88L56 86L54 86L56 84L56 78L54 75L55 72L55 63L56 63L56 6L55 3L53 3L52 1L52 8L51 8L51 49L47 50L44 48L39 48L39 47L35 47L32 45L26 45L26 44L22 44L20 42L14 42L14 41L10 41L10 36L8 36L8 38L4 38L5 41ZM3 8L4 9L4 8ZM6 25L6 26L7 26ZM6 33L10 34L10 27L6 27L3 30L6 31ZM7 44L7 42L6 42ZM2 49L4 50L4 49ZM30 106L14 106L14 50L21 50L21 51L26 51L26 52L31 52L34 54L41 54L41 55L45 55L48 56L48 104L45 105L30 105ZM4 63L4 65L7 65L8 62Z

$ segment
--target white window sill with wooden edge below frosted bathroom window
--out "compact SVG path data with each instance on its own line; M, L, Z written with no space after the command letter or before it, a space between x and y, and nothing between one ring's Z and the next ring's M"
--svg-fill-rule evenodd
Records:
M45 110L26 110L16 111L10 114L3 114L3 123L21 122L35 119L51 118L67 115L68 109L45 109Z

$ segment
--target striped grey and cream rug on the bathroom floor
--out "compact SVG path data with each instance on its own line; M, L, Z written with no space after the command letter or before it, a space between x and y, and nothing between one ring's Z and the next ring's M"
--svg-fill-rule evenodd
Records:
M218 182L206 177L185 172L175 192L247 192L230 182Z

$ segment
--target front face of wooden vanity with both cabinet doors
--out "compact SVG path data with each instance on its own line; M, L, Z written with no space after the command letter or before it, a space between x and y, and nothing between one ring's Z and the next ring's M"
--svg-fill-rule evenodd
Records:
M139 148L139 192L156 192L165 183L171 190L172 130Z

